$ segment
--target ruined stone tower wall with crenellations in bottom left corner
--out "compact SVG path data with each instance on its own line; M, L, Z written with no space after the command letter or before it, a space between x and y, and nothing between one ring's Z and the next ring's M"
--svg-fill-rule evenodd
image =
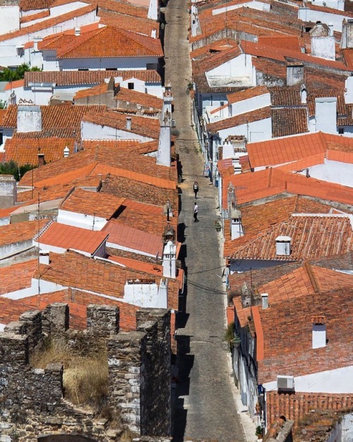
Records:
M80 435L97 442L119 441L123 429L140 441L169 440L170 314L139 310L135 332L119 332L119 308L88 306L85 332L69 328L68 306L55 303L11 322L0 333L0 441L37 442L38 437ZM65 399L63 364L30 366L30 356L47 342L61 342L82 354L107 351L107 407L121 425L95 409ZM164 436L153 438L152 436ZM139 439L137 439L139 440Z

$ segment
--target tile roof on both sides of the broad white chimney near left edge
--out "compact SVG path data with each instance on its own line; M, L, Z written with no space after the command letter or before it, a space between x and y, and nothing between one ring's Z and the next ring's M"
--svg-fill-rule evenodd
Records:
M42 132L49 132L55 129L80 129L83 116L90 112L91 115L102 113L107 110L105 105L83 105L74 106L71 104L58 106L40 106L42 111ZM17 127L17 105L10 105L6 109L3 127Z

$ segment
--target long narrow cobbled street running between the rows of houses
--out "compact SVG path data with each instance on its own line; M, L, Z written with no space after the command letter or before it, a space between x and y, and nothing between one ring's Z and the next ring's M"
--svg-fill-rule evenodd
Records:
M227 363L225 293L215 231L216 190L203 177L203 158L191 127L191 100L186 86L191 79L187 28L189 14L183 0L169 0L166 10L166 81L172 83L174 118L179 139L177 152L183 166L179 238L188 287L185 314L179 322L179 384L174 420L174 442L210 438L219 442L244 441L231 390ZM193 181L200 185L199 223L193 222Z

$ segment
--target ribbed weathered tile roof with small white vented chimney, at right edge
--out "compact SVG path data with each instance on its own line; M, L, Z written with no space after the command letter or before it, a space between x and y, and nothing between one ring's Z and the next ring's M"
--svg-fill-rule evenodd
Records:
M351 216L352 218L352 216ZM295 261L340 255L353 250L352 219L345 215L292 214L256 238L232 241L234 260ZM276 238L291 238L290 255L276 255Z

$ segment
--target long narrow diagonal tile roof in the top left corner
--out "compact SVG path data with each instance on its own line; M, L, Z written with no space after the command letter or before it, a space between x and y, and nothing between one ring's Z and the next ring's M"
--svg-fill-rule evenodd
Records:
M49 18L48 20L40 21L30 26L25 26L25 28L16 30L13 33L0 35L0 42L4 42L6 40L13 40L16 37L27 37L25 38L25 41L27 42L28 35L31 35L32 33L37 33L40 30L49 29L52 28L53 26L55 27L56 25L59 25L60 23L63 23L65 21L70 21L70 20L72 21L74 18L84 16L87 13L95 11L95 9L96 9L95 5L88 5L85 6L84 8L76 9L75 11L62 14L61 16L52 17Z

